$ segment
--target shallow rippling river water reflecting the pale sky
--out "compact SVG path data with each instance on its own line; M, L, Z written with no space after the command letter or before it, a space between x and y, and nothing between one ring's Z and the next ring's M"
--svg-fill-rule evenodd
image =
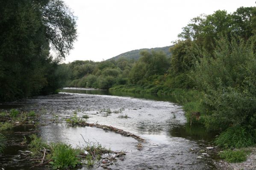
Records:
M198 154L190 151L191 148L203 149L200 144L211 141L212 135L202 128L190 127L181 106L171 101L171 97L153 94L64 88L56 95L4 103L0 109L33 110L40 114L37 130L47 142L66 142L76 147L85 144L83 136L88 142L99 142L111 150L127 152L124 160L118 160L110 166L113 170L215 169L211 159L197 159ZM106 109L112 113L102 112ZM138 141L131 137L96 127L68 126L65 119L74 113L80 117L88 115L89 123L111 125L141 136L145 139L143 149L137 150ZM122 115L128 118L121 118ZM9 154L15 154L15 149L12 150L13 153Z

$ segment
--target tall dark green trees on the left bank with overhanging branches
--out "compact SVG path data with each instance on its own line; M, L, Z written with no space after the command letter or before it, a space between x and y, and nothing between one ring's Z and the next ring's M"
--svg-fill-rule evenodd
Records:
M62 0L1 0L0 101L62 87L59 62L76 34L76 17Z

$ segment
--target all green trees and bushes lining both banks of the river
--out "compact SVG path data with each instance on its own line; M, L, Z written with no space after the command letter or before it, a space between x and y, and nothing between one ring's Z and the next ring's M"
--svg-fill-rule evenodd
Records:
M256 144L256 7L191 19L171 56L141 51L138 60L101 62L63 63L77 39L77 18L63 1L0 1L0 16L1 102L63 87L165 94L188 122L219 132L219 147Z

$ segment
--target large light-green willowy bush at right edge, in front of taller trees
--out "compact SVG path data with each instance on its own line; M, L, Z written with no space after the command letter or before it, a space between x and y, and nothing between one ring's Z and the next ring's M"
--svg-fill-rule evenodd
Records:
M218 130L228 126L255 129L256 57L253 46L241 38L218 41L214 56L197 62L193 79L205 91L206 127ZM215 124L216 123L216 124Z

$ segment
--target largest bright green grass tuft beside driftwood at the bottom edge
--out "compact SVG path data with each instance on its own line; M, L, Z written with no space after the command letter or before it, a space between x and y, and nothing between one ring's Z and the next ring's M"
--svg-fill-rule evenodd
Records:
M51 149L51 159L53 159L53 161L51 161L50 164L52 164L53 169L65 169L68 167L74 168L80 163L78 157L79 150L72 148L70 144L51 144Z

